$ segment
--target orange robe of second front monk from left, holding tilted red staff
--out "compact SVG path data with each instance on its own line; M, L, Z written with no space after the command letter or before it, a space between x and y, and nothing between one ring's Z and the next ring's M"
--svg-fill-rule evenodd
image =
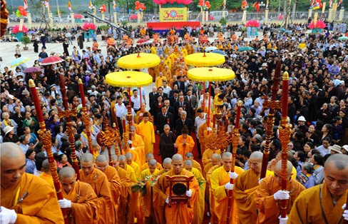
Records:
M98 197L91 185L77 180L68 194L61 191L72 203L71 208L67 208L69 223L98 223Z

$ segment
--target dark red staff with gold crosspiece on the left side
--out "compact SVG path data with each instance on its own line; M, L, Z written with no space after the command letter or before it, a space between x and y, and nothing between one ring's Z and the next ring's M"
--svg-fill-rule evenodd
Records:
M66 118L66 131L68 132L68 136L69 136L69 143L71 148L71 161L73 163L73 169L76 172L76 180L80 180L80 172L78 170L78 161L76 158L76 151L75 151L75 136L73 133L73 123L71 123L71 118L70 118L70 117L76 117L76 110L75 108L73 108L72 110L69 110L68 96L66 96L65 78L62 74L59 74L59 86L61 87L61 96L63 98L63 106L65 111L59 111L58 116L59 118Z

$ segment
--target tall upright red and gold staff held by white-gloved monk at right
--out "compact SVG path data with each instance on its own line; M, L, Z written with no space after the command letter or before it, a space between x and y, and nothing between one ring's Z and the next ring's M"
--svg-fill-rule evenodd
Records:
M285 71L282 77L282 121L280 124L279 136L282 143L282 190L287 190L287 143L290 141L291 124L287 118L287 103L289 94L289 73ZM281 218L287 217L287 200L280 202Z

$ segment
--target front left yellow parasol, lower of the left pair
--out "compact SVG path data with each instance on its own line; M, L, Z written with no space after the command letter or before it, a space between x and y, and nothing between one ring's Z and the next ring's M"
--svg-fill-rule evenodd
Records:
M152 82L152 76L140 71L120 71L106 75L106 83L111 86L141 87L148 86Z

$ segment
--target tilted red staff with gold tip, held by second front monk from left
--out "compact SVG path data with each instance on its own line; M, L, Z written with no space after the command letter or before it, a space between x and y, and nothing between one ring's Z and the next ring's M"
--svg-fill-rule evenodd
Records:
M56 168L56 161L53 158L53 153L51 149L52 147L51 131L48 131L46 129L44 116L41 111L41 104L39 101L38 94L36 92L36 86L35 86L34 80L32 79L29 79L29 88L30 88L31 98L33 98L34 106L35 106L38 120L39 120L39 127L40 127L40 130L38 131L39 137L42 143L44 144L44 148L46 149L49 169L52 174L54 188L56 188L57 198L58 200L63 200L63 194L61 193L61 183L59 182L57 168ZM68 224L68 216L66 215L66 208L61 208L61 212L63 213L64 223Z

